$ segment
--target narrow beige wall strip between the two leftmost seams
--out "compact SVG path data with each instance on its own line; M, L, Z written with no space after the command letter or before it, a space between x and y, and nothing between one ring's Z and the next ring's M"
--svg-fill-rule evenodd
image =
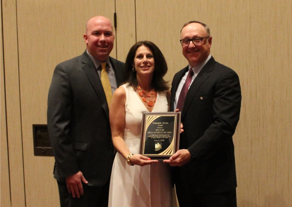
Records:
M8 142L9 176L10 176L9 184L10 184L10 195L11 195L11 206L19 207L19 206L25 206L25 192L24 192L24 178L23 178L24 176L23 175L23 149L22 149L21 114L20 114L20 98L19 98L20 92L19 92L19 71L18 71L16 1L3 0L1 1L1 3L2 3L3 54L4 54L3 62L4 62L4 71L5 71L7 142ZM2 94L1 94L1 98L2 98ZM1 119L1 122L2 122L2 119ZM3 129L1 125L1 131L2 130L5 130L5 129ZM1 139L2 139L2 136L1 136ZM2 146L1 146L1 150L2 150ZM5 173L4 173L4 176L5 176ZM1 172L1 177L2 177L2 172ZM7 183L5 185L7 185ZM9 189L9 186L5 186L5 188ZM1 190L1 194L2 194L2 190Z

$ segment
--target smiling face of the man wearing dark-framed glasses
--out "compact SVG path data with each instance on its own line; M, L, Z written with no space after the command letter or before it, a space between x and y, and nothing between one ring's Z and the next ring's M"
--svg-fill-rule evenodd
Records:
M190 23L182 28L180 39L193 39L195 37L207 37L209 34L203 25L199 23ZM200 44L193 44L190 41L189 45L182 45L182 54L189 61L189 65L194 67L205 61L210 54L212 37L203 39Z

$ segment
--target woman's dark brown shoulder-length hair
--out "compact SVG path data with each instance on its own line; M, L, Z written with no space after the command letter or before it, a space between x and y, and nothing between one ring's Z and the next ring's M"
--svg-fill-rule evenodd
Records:
M126 63L125 63L125 80L128 82L128 86L132 86L133 88L136 88L138 86L137 83L137 78L136 74L137 72L133 72L133 63L134 63L134 58L136 54L136 50L144 45L145 47L148 47L151 52L153 53L154 57L154 72L153 72L153 78L151 81L151 87L154 88L156 91L165 91L168 90L169 87L167 85L168 81L165 81L163 79L164 75L167 72L167 64L165 61L165 58L163 57L162 52L159 50L159 48L152 42L150 41L140 41L134 44L126 58Z

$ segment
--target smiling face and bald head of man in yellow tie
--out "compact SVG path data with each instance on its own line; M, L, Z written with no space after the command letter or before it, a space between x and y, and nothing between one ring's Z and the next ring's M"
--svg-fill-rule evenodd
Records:
M86 33L83 35L88 52L100 61L105 61L113 49L113 26L109 19L96 16L86 24Z

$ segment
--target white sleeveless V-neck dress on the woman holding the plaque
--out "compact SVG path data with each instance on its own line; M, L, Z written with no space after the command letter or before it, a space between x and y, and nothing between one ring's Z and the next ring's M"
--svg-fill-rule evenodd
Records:
M149 112L134 89L127 84L124 141L133 154L139 154L142 113ZM166 92L158 92L152 112L167 112ZM172 186L170 167L159 161L146 166L130 166L116 153L109 185L109 207L170 207Z

